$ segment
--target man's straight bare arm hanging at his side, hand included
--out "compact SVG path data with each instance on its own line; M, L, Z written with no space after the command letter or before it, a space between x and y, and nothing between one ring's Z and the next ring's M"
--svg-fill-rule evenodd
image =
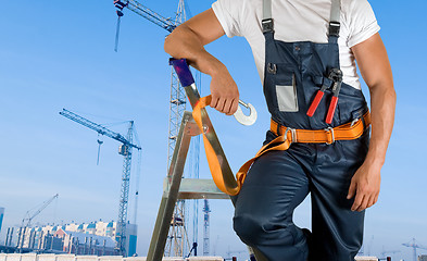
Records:
M390 63L379 34L352 48L371 92L372 135L365 162L354 174L348 198L355 195L353 211L362 211L378 200L380 170L394 123L395 91Z

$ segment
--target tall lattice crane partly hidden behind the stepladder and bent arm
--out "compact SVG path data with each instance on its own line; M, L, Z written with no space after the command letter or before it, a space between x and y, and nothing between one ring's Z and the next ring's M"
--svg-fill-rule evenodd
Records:
M159 13L152 11L151 9L142 5L138 1L135 0L114 0L114 7L116 8L117 13L117 29L116 29L116 39L115 39L115 50L117 50L118 45L118 32L120 32L120 23L121 17L124 15L123 10L127 8L128 10L133 11L134 13L145 17L146 20L152 22L153 24L162 27L163 29L172 33L178 25L184 23L187 20L186 10L185 10L185 1L179 0L178 9L175 14L174 18L168 18L160 15ZM174 70L171 72L171 103L169 103L169 132L168 132L168 150L167 150L167 167L171 165L172 156L174 153L176 138L179 133L179 125L183 120L183 114L186 109L186 96L183 88L179 87L179 79L175 74ZM200 82L200 72L196 74L197 82ZM199 86L200 83L199 83ZM200 136L193 137L193 147L192 150L190 149L190 159L192 160L192 178L199 177L199 147L200 147ZM197 201L197 200L196 200ZM194 202L194 208L197 208L197 202ZM185 200L178 200L175 212L174 212L174 220L180 220L185 224L188 222L186 216L186 204ZM194 211L193 215L194 222L194 229L193 229L193 238L197 239L197 226L198 226L198 216L197 212ZM172 222L172 224L175 224ZM185 239L186 231L185 226L181 225L173 225L172 229L169 229L168 240L165 247L165 256L174 256L174 257L184 257L185 247L189 248L188 238ZM194 241L197 243L197 241ZM172 246L175 245L175 246ZM176 246L177 245L177 246ZM172 251L172 249L174 249Z

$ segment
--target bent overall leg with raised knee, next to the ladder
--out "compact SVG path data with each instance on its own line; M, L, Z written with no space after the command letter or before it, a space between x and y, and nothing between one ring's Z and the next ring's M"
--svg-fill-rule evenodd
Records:
M238 196L237 235L271 261L305 261L305 236L292 214L307 192L309 181L297 160L288 151L267 152L254 162Z

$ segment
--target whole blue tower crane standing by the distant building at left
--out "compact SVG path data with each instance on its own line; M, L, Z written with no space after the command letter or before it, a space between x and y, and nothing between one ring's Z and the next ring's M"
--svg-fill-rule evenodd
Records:
M129 179L130 179L130 166L131 166L131 153L133 149L137 149L139 152L141 151L141 147L139 146L139 141L137 145L133 144L134 138L134 121L129 121L129 126L127 128L127 135L124 137L123 135L115 133L113 130L108 129L106 127L91 122L83 116L75 114L68 110L63 109L60 112L61 115L84 125L85 127L91 128L96 130L100 135L108 136L112 139L115 139L122 145L118 147L118 153L123 156L123 172L122 172L122 187L121 187L121 197L118 202L118 219L117 219L117 228L116 228L116 248L118 252L123 256L126 256L126 223L127 223L127 206L129 198ZM138 194L138 191L137 191ZM137 211L137 210L135 210Z

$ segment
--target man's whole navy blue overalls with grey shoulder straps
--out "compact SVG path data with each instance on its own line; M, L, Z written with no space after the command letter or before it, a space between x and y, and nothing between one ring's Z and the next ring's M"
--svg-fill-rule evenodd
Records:
M272 119L282 126L325 129L360 119L368 110L362 91L342 83L330 124L325 122L330 89L314 115L306 115L321 86L334 84L328 77L331 70L340 67L340 1L332 0L331 7L327 44L284 42L274 39L271 0L264 0L264 95ZM268 130L264 144L275 137ZM368 139L366 129L357 139L292 144L288 150L259 158L237 199L234 228L241 240L271 261L353 261L362 246L364 211L351 211L354 199L348 200L347 194ZM311 235L292 221L293 210L309 192Z

